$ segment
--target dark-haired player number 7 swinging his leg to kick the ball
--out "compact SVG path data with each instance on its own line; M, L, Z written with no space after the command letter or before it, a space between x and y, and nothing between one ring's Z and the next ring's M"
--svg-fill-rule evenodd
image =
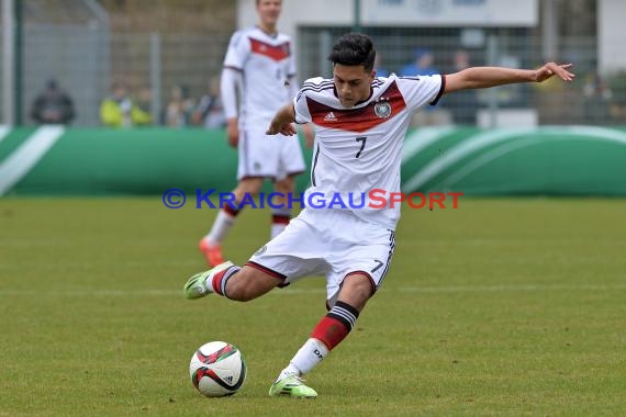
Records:
M342 36L329 56L333 79L304 82L293 103L271 121L269 134L293 135L293 122L315 125L309 195L367 195L372 189L400 192L400 156L409 122L420 106L436 104L443 94L541 82L555 75L564 81L574 78L570 65L555 63L534 70L474 67L445 76L377 78L375 56L366 35ZM270 395L315 397L301 376L348 335L380 288L393 253L400 210L368 207L309 206L243 268L225 262L193 275L185 285L188 298L215 293L249 301L306 275L326 277L328 313L280 372Z

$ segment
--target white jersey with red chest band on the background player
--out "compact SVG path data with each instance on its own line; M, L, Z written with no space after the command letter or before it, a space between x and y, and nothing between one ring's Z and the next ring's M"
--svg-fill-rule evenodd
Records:
M235 32L224 67L243 75L239 119L244 127L269 124L276 111L293 97L288 79L295 75L295 59L291 40L282 33L269 35L257 26Z

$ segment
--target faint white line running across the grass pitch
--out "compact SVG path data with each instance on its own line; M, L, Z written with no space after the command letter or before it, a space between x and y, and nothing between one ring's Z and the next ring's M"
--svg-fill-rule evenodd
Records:
M623 291L626 284L615 285L462 285L462 286L401 286L383 289L385 293L493 293L493 292L536 292L536 291ZM275 295L295 294L324 294L325 289L283 289L272 291ZM0 290L0 296L177 296L182 298L179 290L67 290L67 291L41 291L41 290Z

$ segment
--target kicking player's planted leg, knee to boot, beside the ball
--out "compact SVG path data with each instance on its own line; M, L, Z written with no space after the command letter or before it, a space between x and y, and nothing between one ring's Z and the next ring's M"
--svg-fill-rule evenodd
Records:
M289 365L269 390L269 395L290 395L314 398L317 393L304 385L301 376L311 372L337 345L348 336L373 293L371 280L365 273L350 273L335 305L311 333L311 337L295 353Z

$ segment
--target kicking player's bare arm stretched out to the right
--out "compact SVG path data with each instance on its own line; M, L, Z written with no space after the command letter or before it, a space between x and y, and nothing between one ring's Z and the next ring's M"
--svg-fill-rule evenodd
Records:
M543 82L552 76L563 81L573 81L571 64L547 63L538 69L515 69L504 67L472 67L446 76L444 94L468 89L489 88L517 82Z

